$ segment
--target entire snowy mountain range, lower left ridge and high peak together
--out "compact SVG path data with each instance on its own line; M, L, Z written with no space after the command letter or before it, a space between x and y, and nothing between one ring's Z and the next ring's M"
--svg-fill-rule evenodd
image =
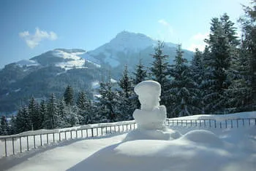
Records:
M95 92L99 81L109 73L113 80L118 80L126 64L130 72L140 59L143 65L150 66L156 45L156 40L142 33L122 31L110 42L88 52L53 49L30 60L5 65L0 70L0 113L17 110L31 96L47 98L53 92L60 97L68 84L77 92ZM172 63L176 44L165 43L163 51ZM192 56L193 52L184 49L185 58L191 60Z

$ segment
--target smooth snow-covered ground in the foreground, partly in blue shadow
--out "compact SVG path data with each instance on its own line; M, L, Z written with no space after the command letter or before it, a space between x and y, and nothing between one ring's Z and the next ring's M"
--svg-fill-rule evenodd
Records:
M202 118L203 117L203 118ZM205 119L203 115L183 119ZM210 116L209 116L210 117ZM211 119L256 118L256 112ZM182 119L182 118L180 118ZM256 168L256 126L170 127L181 132L175 140L130 140L127 133L62 141L23 155L0 159L0 170L146 170L252 171ZM203 129L203 130L200 130Z

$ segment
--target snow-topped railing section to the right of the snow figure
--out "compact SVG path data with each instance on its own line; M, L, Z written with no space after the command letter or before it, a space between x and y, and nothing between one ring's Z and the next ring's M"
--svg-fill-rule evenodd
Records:
M236 119L167 119L166 125L170 127L206 127L206 128L238 128L256 125L256 118Z

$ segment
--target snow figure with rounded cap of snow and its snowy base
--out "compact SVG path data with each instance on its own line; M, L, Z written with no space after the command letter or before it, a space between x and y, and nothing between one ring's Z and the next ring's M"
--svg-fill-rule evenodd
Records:
M140 109L133 112L136 130L129 132L123 142L128 140L173 140L181 134L165 126L166 108L160 106L161 85L157 81L142 81L135 86L140 101Z

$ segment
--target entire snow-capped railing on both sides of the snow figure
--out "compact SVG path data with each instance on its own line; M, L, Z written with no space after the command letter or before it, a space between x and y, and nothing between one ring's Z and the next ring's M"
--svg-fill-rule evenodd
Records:
M256 118L247 119L167 119L165 124L169 127L204 127L204 128L238 128L256 125ZM18 135L0 136L0 158L11 156L33 148L47 146L63 140L77 138L94 138L105 135L134 130L138 125L135 121L116 122L105 124L89 124L76 128L60 130L46 130L45 132L23 132Z

